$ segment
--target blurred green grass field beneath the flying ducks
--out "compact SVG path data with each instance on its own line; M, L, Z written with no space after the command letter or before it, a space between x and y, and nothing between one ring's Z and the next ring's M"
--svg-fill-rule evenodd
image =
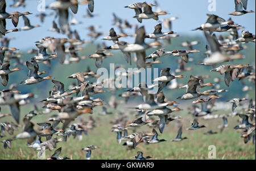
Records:
M7 108L6 108L7 109ZM122 110L122 108L120 108ZM7 110L4 110L7 112ZM22 113L28 112L28 109L22 108ZM172 113L172 116L180 115L183 117L183 136L187 136L181 142L171 142L173 138L176 137L177 128L176 121L170 122L164 129L163 134L160 134L159 139L166 139L167 142L161 142L158 144L139 144L135 149L127 150L126 146L118 144L116 141L116 134L112 132L112 125L109 121L117 117L117 114L110 116L99 116L98 113L101 112L100 107L94 110L93 117L100 118L97 121L97 127L93 130L88 131L88 135L83 134L82 141L73 139L73 136L69 136L67 142L57 143L57 148L62 147L60 156L67 156L71 159L85 159L85 152L81 149L88 145L100 146L100 149L95 149L92 151L91 159L133 159L137 151L142 151L144 156L150 155L153 159L208 159L208 146L216 146L216 159L255 159L255 144L250 141L247 144L243 143L243 139L240 138L241 133L238 130L234 130L233 127L238 124L238 117L228 117L228 127L220 134L217 129L218 125L222 124L222 119L212 119L203 120L199 119L200 124L207 126L206 128L200 130L188 131L187 127L190 126L191 116L187 114L187 110L182 110L181 112ZM113 112L115 112L113 110ZM225 111L223 111L225 112ZM41 116L36 116L32 119L33 122L43 122L44 119L50 117L51 114L44 114ZM217 114L221 114L220 111ZM90 114L83 114L82 118L86 119ZM130 121L135 118L130 117ZM1 122L13 121L11 117L5 117L1 119ZM21 130L21 128L20 128ZM218 131L218 134L204 135L204 132L208 130ZM139 127L137 131L151 131L151 128L144 125ZM18 134L20 131L15 131L14 135ZM129 130L128 134L132 131ZM11 137L8 133L4 138ZM4 139L2 138L2 139ZM0 139L0 140L2 140ZM45 140L45 138L42 138ZM12 142L12 148L4 149L3 144L0 146L0 159L38 159L37 152L32 148L26 147L26 140L15 140ZM57 149L55 148L55 149ZM46 157L51 156L53 151L46 150Z

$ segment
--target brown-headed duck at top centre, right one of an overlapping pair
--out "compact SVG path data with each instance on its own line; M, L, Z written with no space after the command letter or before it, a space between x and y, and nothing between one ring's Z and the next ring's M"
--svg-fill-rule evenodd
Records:
M158 20L159 15L166 15L166 11L160 11L160 12L153 12L150 5L148 5L146 2L142 3L143 12L136 14L133 18L140 18L140 19L154 19Z

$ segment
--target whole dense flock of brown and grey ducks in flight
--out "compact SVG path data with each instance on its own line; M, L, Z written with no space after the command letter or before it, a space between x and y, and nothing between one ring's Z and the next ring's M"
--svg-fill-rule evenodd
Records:
M235 0L236 11L232 12L230 15L244 15L254 11L246 11L247 0ZM161 23L155 25L154 32L146 35L145 28L136 27L134 35L128 35L123 30L130 29L134 25L129 24L127 20L118 18L117 15L113 13L114 23L120 33L117 34L114 28L111 28L109 35L102 38L104 41L112 41L113 45L99 47L94 54L90 54L89 58L95 59L96 67L101 67L103 60L106 57L114 58L114 54L110 53L112 50L120 50L123 54L123 58L127 63L135 62L137 67L146 68L152 67L155 63L161 63L160 59L168 55L169 57L179 57L177 58L178 68L174 71L171 71L170 68L161 69L160 76L154 78L152 82L158 82L159 84L147 85L146 83L139 83L137 87L127 89L120 96L124 100L116 100L115 96L112 95L108 101L102 99L96 99L92 97L96 93L104 93L104 84L111 84L116 80L120 80L122 75L117 75L116 78L109 78L103 80L101 83L91 83L88 80L92 78L98 78L100 75L88 68L85 71L76 72L70 76L67 76L67 79L76 80L77 83L73 83L68 88L65 85L52 76L42 76L46 74L46 71L40 71L39 64L43 63L51 69L51 60L58 58L59 62L63 65L68 65L72 62L79 62L81 59L86 59L86 57L79 57L78 52L83 48L81 45L84 45L85 40L81 40L77 31L72 31L70 25L79 24L73 16L72 21L68 21L69 9L71 14L76 14L78 7L80 5L88 4L88 11L86 18L93 18L94 14L94 1L77 1L77 0L59 0L49 4L46 8L51 9L54 12L52 14L56 15L59 18L59 21L56 23L53 21L53 27L49 28L49 31L62 33L67 35L68 38L55 38L55 37L44 37L41 40L36 41L36 47L38 49L30 50L30 54L35 54L30 61L22 62L20 61L21 54L18 52L19 49L9 48L9 41L5 37L7 33L15 31L28 31L40 25L31 25L30 17L32 14L30 12L13 12L11 14L6 12L6 1L0 1L0 35L2 46L0 47L0 76L2 86L8 86L9 75L12 72L18 72L18 65L26 66L28 69L27 79L17 82L16 84L9 85L8 89L3 89L1 91L0 97L0 106L7 105L10 108L10 113L1 113L0 118L12 116L16 122L2 122L1 123L1 132L0 138L3 143L4 148L11 148L11 143L16 139L27 139L27 147L39 151L39 156L42 156L43 152L46 149L52 151L56 148L56 144L59 142L67 142L69 136L74 136L78 140L82 140L82 135L88 134L88 131L96 127L97 119L94 119L92 116L85 121L80 116L82 114L93 114L93 108L96 106L102 106L101 116L111 115L113 112L108 112L108 107L113 107L117 109L119 104L127 104L129 99L141 96L143 103L133 106L133 109L136 113L136 118L133 121L130 121L129 116L131 113L126 113L118 111L118 118L112 119L110 122L112 127L112 132L117 134L117 143L127 146L128 149L135 149L138 144L156 144L161 142L167 142L165 139L158 139L158 131L163 134L164 128L172 121L183 119L180 116L170 116L173 112L179 112L178 107L179 103L175 100L168 100L164 96L163 91L166 89L178 89L185 88L186 91L183 95L177 97L178 100L191 100L192 106L188 107L189 114L192 115L193 121L191 121L191 126L187 130L197 130L206 127L201 125L198 122L199 118L207 119L216 119L222 118L223 125L218 126L220 132L222 132L225 127L228 127L228 117L240 118L240 124L234 127L235 130L241 130L241 137L244 139L244 142L247 143L251 139L255 143L255 101L253 99L247 98L234 98L227 101L232 103L232 113L230 114L212 114L214 112L213 107L216 99L220 99L223 95L220 93L227 92L226 89L220 89L221 78L214 78L213 83L205 83L204 79L209 78L209 75L190 75L186 77L184 75L175 75L176 73L184 73L186 71L191 71L192 67L186 67L188 62L193 61L191 53L199 53L197 49L193 49L193 46L199 44L199 41L186 41L181 44L184 48L187 49L174 49L166 50L162 48L162 43L159 40L166 40L167 43L171 43L171 38L179 36L176 32L172 31L172 20L177 19L177 17L165 18L160 20ZM16 1L11 7L25 6L26 1ZM152 7L156 7L156 10L153 11ZM167 15L166 11L160 10L160 7L157 2L152 3L134 3L132 5L127 5L125 8L130 8L135 11L133 18L136 18L139 23L142 23L144 19L154 19L159 20L160 15ZM51 15L52 15L51 14ZM73 15L72 14L72 15ZM24 27L20 29L11 29L6 30L6 19L11 19L14 27L18 26L19 17L22 16L24 20ZM28 16L28 17L27 17ZM41 13L36 15L40 18L40 21L43 23L44 19L49 16L48 14ZM249 80L253 82L255 86L255 66L248 64L238 64L232 65L229 63L237 59L245 58L244 55L240 54L240 50L246 49L245 44L248 42L255 43L255 35L249 31L243 30L241 36L239 36L238 30L243 27L239 24L234 24L233 20L230 18L227 21L222 19L220 16L207 14L208 19L205 23L201 24L200 27L193 29L194 31L200 30L204 32L205 38L207 39L208 45L206 46L206 52L204 53L207 57L199 63L203 66L212 66L213 69L210 71L219 72L221 75L225 74L224 82L226 86L235 86L230 84L235 79L241 80L245 91L247 91L249 86L245 83L244 80ZM131 16L132 17L132 16ZM164 28L168 29L168 32L162 31L162 24ZM59 25L59 27L58 27ZM97 27L90 25L88 27L90 33L88 36L91 38L91 41L96 40L98 37L102 36L103 33L97 32ZM217 37L214 32L229 32L227 37ZM126 41L121 41L125 37L131 36L135 37L134 43L129 43ZM146 43L145 40L154 39L154 42L150 44ZM69 45L67 45L69 44ZM150 55L146 56L145 50L150 48L156 48ZM135 54L135 58L131 58L131 54ZM69 57L67 57L69 56ZM254 57L251 57L254 58ZM11 65L10 61L15 60L16 63ZM152 61L151 61L152 60ZM220 66L218 66L220 65ZM122 65L115 66L115 69L122 67ZM127 76L129 73L124 73ZM134 74L134 73L133 73ZM14 74L11 74L14 75ZM185 85L178 84L178 79L187 79L188 82ZM34 110L29 112L22 118L23 120L23 130L18 134L15 134L13 138L3 139L6 136L6 132L10 135L14 135L14 132L18 131L20 126L20 106L26 105L30 102L32 98L35 97L33 93L22 94L18 91L17 87L21 85L32 85L38 84L40 82L45 82L46 80L51 80L52 90L49 92L49 96L42 100L43 103L42 109L37 107L37 104L34 105ZM168 85L170 84L170 85ZM158 87L156 93L150 93L150 89L153 87ZM203 87L209 87L207 91L201 92L200 89ZM115 92L116 89L121 89L122 86L115 85L114 88L109 88L110 91ZM254 87L255 89L255 87ZM246 105L246 101L249 101L249 105ZM197 103L201 104L201 108L197 106ZM104 106L107 105L108 107ZM238 106L243 106L243 110L239 113L237 112ZM173 107L173 108L172 108ZM41 114L50 113L51 111L58 110L59 113L51 116L47 121L40 123L35 123L33 118L40 116ZM158 119L154 119L157 117ZM250 118L250 121L249 121ZM251 123L250 123L251 122ZM180 123L179 130L177 131L176 138L172 139L172 142L180 142L181 140L188 139L187 137L182 136L183 126ZM18 124L18 125L17 125ZM136 131L141 126L147 125L152 129L151 132ZM128 134L128 131L132 130L132 134ZM204 134L216 134L212 130L205 132ZM42 141L45 138L46 140ZM99 146L89 145L85 148L82 148L82 151L86 152L86 159L90 159L92 150L100 148ZM53 155L47 159L49 160L64 160L69 159L69 157L59 157L61 153L61 147L56 149ZM135 159L144 160L150 159L152 157L146 156L143 157L143 152L138 151L137 156L134 156Z

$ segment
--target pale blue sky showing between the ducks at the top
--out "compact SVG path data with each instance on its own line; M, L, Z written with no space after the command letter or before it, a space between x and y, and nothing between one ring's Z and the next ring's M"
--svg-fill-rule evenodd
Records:
M209 0L211 1L211 0ZM53 0L46 0L46 5L49 5ZM83 18L82 16L86 14L87 5L80 5L79 11L75 15L77 20L81 21L82 24L72 26L73 29L77 29L80 34L81 39L89 40L87 36L88 31L85 29L89 25L100 25L101 28L98 28L98 31L108 33L109 29L113 27L112 13L115 12L119 16L119 18L126 19L130 22L130 24L138 24L139 26L144 25L146 27L146 32L151 33L154 31L154 26L160 22L160 20L156 21L153 19L143 20L140 24L137 22L135 18L133 18L135 12L129 8L124 8L126 5L130 5L131 3L143 2L143 1L120 1L120 0L94 0L94 14L98 14L95 18ZM147 3L154 3L154 1L146 1ZM53 33L47 31L47 29L52 27L52 20L55 20L57 23L58 19L55 19L53 16L48 16L45 19L44 23L40 23L40 19L36 18L35 15L40 12L37 10L37 6L39 5L36 0L27 0L26 8L19 7L13 8L10 6L10 1L6 1L7 7L6 11L11 13L14 11L25 12L30 11L33 15L29 15L28 18L32 25L40 24L42 25L39 28L32 29L30 31L22 31L22 32L13 32L7 34L7 37L15 37L15 40L10 42L10 47L15 47L20 50L27 50L30 48L36 48L35 41L38 41L46 36L53 36L56 38L65 37L65 35L61 35L58 33ZM177 16L179 19L173 22L173 30L179 35L202 35L201 31L191 31L191 29L199 27L201 24L205 23L207 20L206 14L216 14L221 16L224 19L228 19L232 17L235 23L243 25L246 30L255 34L255 13L245 14L242 16L231 16L228 15L230 12L234 11L234 0L216 0L216 11L208 11L208 6L210 2L208 0L179 0L179 1L170 1L170 0L159 0L158 1L161 9L163 11L167 11L168 15L159 16L159 19L164 19L171 16ZM153 11L155 7L152 8ZM249 0L247 4L247 10L255 11L255 1ZM53 10L47 9L46 13L50 14ZM19 24L17 28L23 27L24 22L23 19L20 18ZM7 29L13 29L14 26L11 23L10 19L7 19L6 24ZM115 31L118 33L119 30L115 28ZM134 29L125 29L127 33L133 33ZM167 31L167 30L163 30ZM105 36L105 35L104 35ZM103 37L103 36L102 36ZM100 38L102 38L100 37ZM98 39L100 40L100 39ZM133 42L134 38L123 39L128 42ZM112 42L108 42L108 44L112 44Z

